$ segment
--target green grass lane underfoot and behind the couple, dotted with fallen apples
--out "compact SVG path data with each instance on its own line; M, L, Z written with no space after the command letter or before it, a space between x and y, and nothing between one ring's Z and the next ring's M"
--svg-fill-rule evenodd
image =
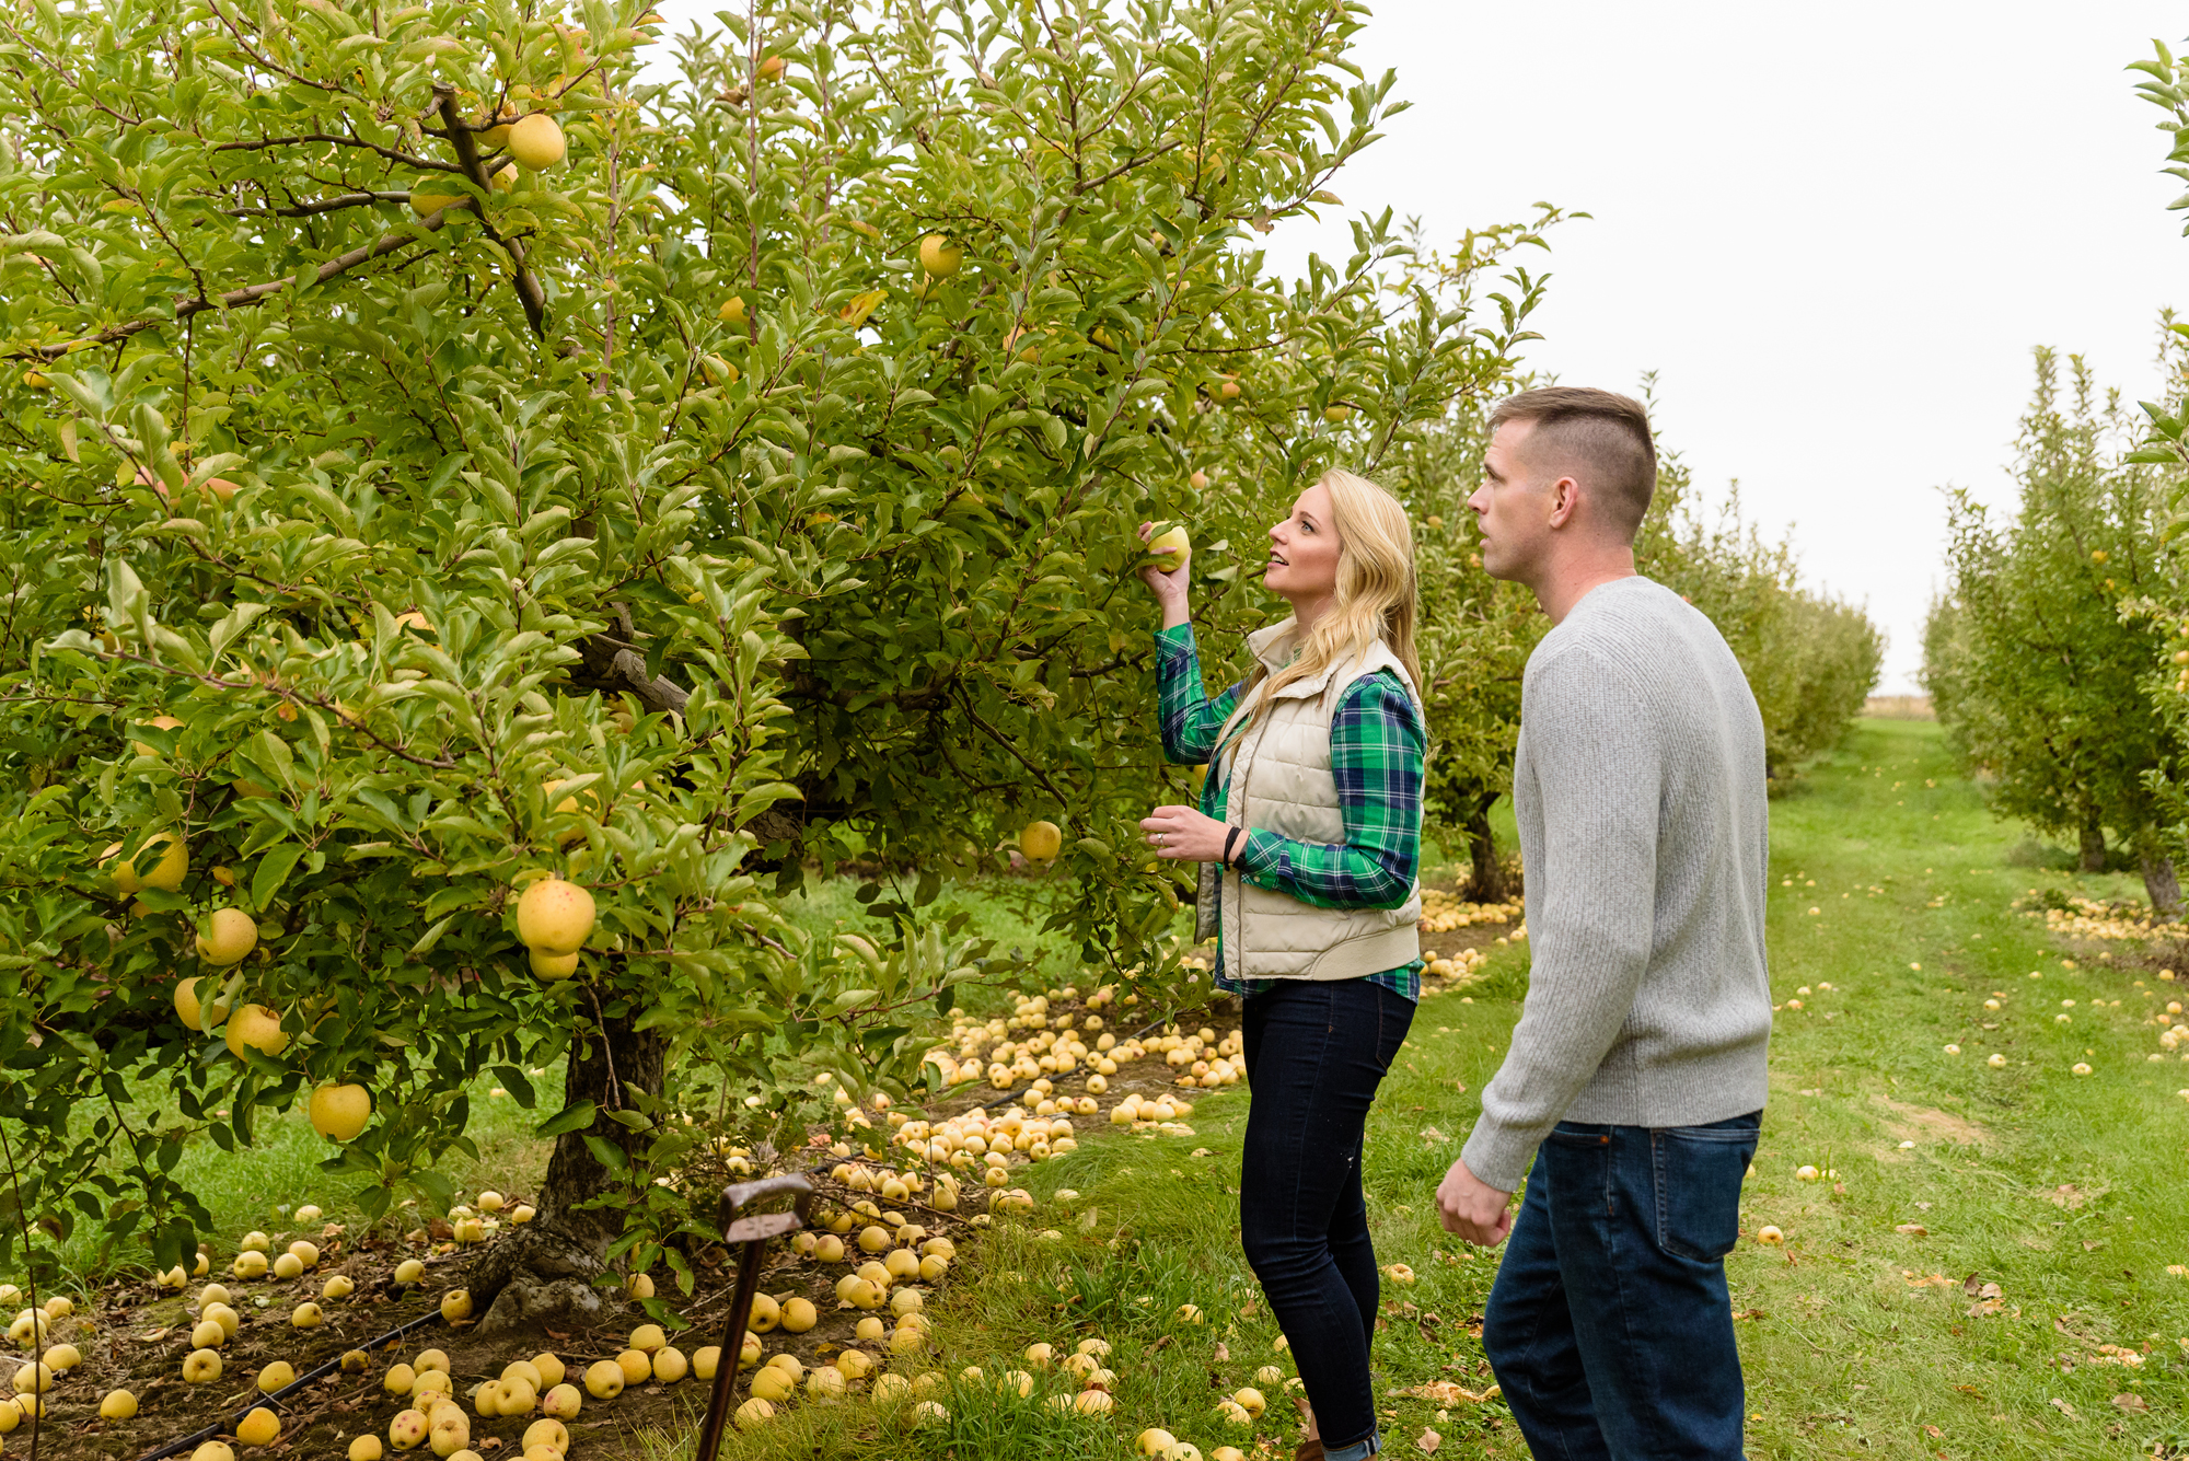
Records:
M2178 984L2161 982L2163 960L2136 945L2110 960L2086 949L2064 969L2069 951L2014 899L2047 886L2128 897L2132 879L2031 868L2027 849L2016 853L2025 842L1953 774L1924 722L1858 724L1773 803L1773 989L1804 1008L1777 1017L1773 1096L1742 1203L1745 1231L1777 1225L1786 1247L1745 1240L1729 1258L1758 1461L2115 1459L2189 1433L2189 1277L2167 1273L2189 1262L2178 1201L2189 1102L2174 1094L2189 1067L2145 1059L2158 1052L2150 1013ZM1423 1380L1489 1382L1471 1321L1497 1255L1458 1251L1432 1194L1504 1056L1521 958L1499 954L1499 978L1471 1004L1438 995L1421 1006L1370 1120L1379 1258L1418 1273L1410 1288L1386 1288L1377 1339L1379 1406L1399 1450L1436 1428L1440 1457L1526 1454L1495 1402L1438 1413L1390 1395ZM2005 993L1999 1013L1983 1010L1992 991ZM1944 1054L1948 1043L1961 1054ZM1992 1052L2005 1070L1985 1065ZM2073 1076L2077 1061L2095 1074ZM1193 1137L1105 1131L1029 1170L1042 1205L1007 1223L930 1308L939 1363L989 1376L1029 1343L1068 1349L1101 1334L1121 1376L1112 1419L1035 1417L961 1389L950 1428L906 1433L865 1404L792 1406L725 1454L1123 1457L1149 1424L1204 1452L1230 1441L1252 1454L1211 1406L1259 1365L1292 1365L1272 1349L1267 1310L1243 1312L1256 1297L1237 1247L1246 1100L1202 1100ZM1797 1181L1804 1164L1837 1183ZM1059 1188L1081 1196L1059 1205ZM1911 1284L1933 1275L1946 1282ZM1964 1293L1966 1279L1979 1290ZM1983 1284L1999 1286L1996 1308ZM1182 1301L1208 1323L1178 1325ZM2095 1345L2147 1354L2141 1367L2090 1363ZM1259 1435L1289 1452L1283 1395L1272 1393ZM668 1461L685 1446L659 1437L646 1454Z

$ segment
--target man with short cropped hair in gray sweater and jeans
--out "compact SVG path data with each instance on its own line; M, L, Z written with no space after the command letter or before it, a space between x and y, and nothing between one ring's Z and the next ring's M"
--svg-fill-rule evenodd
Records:
M1510 1234L1482 1347L1559 1461L1742 1454L1725 1253L1771 1039L1764 728L1710 619L1635 573L1655 483L1640 402L1552 387L1491 413L1469 499L1482 566L1554 628L1513 757L1528 1002L1436 1201L1469 1242Z

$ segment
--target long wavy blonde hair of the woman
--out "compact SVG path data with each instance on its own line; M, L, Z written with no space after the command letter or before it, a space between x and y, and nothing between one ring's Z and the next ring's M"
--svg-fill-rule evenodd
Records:
M1421 693L1421 661L1414 658L1414 525L1405 507L1377 483L1337 466L1322 472L1316 486L1331 494L1331 525L1340 549L1337 593L1307 632L1300 654L1270 678L1252 713L1239 722L1241 733L1270 713L1276 691L1359 658L1377 639L1405 665L1405 678ZM1267 669L1256 665L1248 696L1265 676Z

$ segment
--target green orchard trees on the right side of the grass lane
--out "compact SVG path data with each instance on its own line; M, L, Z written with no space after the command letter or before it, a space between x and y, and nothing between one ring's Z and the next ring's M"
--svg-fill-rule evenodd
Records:
M2136 90L2169 116L2165 171L2189 179L2189 63L2163 44ZM2189 206L2189 197L2174 208ZM1924 628L1924 687L1992 803L2075 846L2084 870L2141 870L2182 914L2189 851L2189 326L2161 322L2163 396L2130 409L2082 359L2036 354L2016 442L2020 501L1948 503L1946 591Z

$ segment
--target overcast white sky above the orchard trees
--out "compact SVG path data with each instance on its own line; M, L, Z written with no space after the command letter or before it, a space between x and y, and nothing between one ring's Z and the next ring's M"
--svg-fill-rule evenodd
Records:
M661 9L685 28L714 7ZM1869 608L1880 689L1907 693L1939 488L2012 501L2029 350L2147 396L2156 313L2189 311L2182 186L2123 72L2185 28L2189 7L2143 0L1383 0L1355 59L1414 107L1335 190L1432 238L1537 199L1591 212L1537 256L1530 363L1613 389L1659 372L1666 444ZM1270 258L1313 247L1348 252L1342 219L1281 227Z

